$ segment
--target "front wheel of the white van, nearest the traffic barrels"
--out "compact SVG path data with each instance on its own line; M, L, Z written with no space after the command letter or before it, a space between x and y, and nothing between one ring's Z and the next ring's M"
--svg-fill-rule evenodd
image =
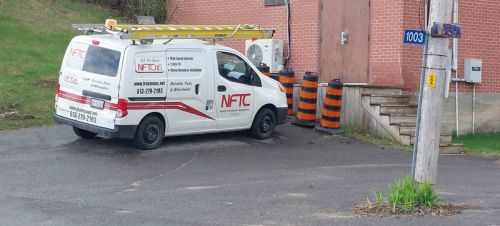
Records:
M259 140L270 138L276 128L276 114L269 109L264 108L257 113L252 123L250 132Z

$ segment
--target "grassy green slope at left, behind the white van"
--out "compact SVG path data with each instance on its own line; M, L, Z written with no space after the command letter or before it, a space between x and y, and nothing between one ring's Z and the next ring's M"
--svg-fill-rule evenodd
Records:
M71 24L103 23L113 15L117 13L78 1L2 0L0 107L16 106L20 117L0 117L0 130L53 123L61 61L71 38L79 34Z

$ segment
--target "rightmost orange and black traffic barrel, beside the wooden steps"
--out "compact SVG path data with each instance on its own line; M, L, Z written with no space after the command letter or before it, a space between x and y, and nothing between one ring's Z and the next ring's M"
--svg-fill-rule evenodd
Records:
M340 79L328 82L326 89L325 104L323 106L321 120L315 127L316 131L329 135L341 133L340 116L342 110L343 84Z

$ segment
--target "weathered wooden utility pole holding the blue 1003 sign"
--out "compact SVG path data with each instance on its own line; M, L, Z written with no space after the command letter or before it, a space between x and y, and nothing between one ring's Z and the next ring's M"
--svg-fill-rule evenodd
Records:
M434 22L451 23L453 0L431 0L429 29ZM420 109L415 181L435 184L437 175L441 115L446 83L446 64L449 39L429 36L425 85Z

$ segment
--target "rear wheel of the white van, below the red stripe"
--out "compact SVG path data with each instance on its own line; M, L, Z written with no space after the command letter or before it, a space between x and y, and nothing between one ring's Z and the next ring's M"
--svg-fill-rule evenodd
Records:
M134 146L142 150L158 148L165 136L165 125L157 116L144 118L139 124L134 137Z

